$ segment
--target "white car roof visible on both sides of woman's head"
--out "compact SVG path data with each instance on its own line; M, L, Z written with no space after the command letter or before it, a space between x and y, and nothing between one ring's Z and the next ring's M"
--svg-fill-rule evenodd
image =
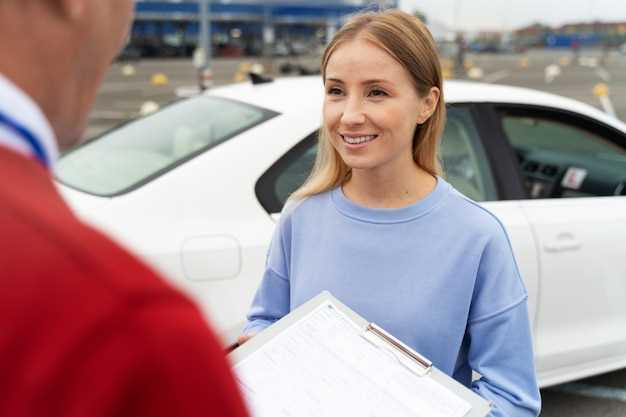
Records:
M245 101L283 114L312 111L320 114L323 85L320 76L285 77L253 85L231 84L209 90L206 94ZM580 113L626 131L626 124L588 104L570 98L529 88L488 84L475 81L448 80L444 83L447 103L502 103L553 107Z

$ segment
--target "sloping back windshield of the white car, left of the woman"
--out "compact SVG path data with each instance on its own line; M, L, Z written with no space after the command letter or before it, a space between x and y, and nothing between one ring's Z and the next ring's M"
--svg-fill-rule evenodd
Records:
M64 154L56 178L89 194L123 194L275 115L219 97L180 101Z

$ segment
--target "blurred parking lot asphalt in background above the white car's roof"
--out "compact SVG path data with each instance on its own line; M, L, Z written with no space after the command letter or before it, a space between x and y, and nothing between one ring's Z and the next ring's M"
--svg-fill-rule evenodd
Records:
M611 51L604 59L600 50L583 50L578 59L569 50L537 50L526 54L501 55L468 54L466 58L472 67L466 74L457 71L451 76L536 88L574 98L600 109L603 107L600 98L594 95L594 88L603 83L608 87L609 99L616 116L626 120L626 56L617 51ZM265 64L278 74L281 64L286 61L280 58ZM212 64L214 85L234 82L242 63L255 62L258 60L215 60ZM290 62L315 69L319 65L319 58L299 57ZM547 77L550 71L551 76ZM554 71L558 75L552 75ZM167 82L153 85L152 81L164 81L163 77L158 79L159 75L164 75ZM476 75L480 77L472 78ZM156 79L153 80L155 76ZM86 138L136 117L147 102L151 102L149 106L153 103L163 106L177 99L177 89L196 85L197 74L191 60L116 62L108 72L97 97Z

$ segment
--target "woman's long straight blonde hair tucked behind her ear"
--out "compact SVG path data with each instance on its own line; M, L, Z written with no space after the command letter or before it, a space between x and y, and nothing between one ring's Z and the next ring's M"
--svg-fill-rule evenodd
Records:
M418 18L400 10L356 14L337 32L324 51L321 67L324 82L326 67L333 52L357 37L365 38L395 58L411 76L420 97L426 96L432 87L439 89L440 97L434 113L426 122L416 127L413 159L431 175L440 175L437 150L445 124L446 108L441 64L432 35ZM350 174L350 168L330 143L326 126L322 126L313 171L304 185L291 197L299 199L328 191L345 183Z

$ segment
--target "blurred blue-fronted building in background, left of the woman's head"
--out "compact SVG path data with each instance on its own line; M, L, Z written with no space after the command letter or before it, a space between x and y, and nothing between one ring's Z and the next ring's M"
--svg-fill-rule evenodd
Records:
M216 56L315 52L346 16L397 7L398 0L211 0ZM129 49L141 56L190 56L198 43L198 0L137 0ZM264 42L265 41L265 42Z

